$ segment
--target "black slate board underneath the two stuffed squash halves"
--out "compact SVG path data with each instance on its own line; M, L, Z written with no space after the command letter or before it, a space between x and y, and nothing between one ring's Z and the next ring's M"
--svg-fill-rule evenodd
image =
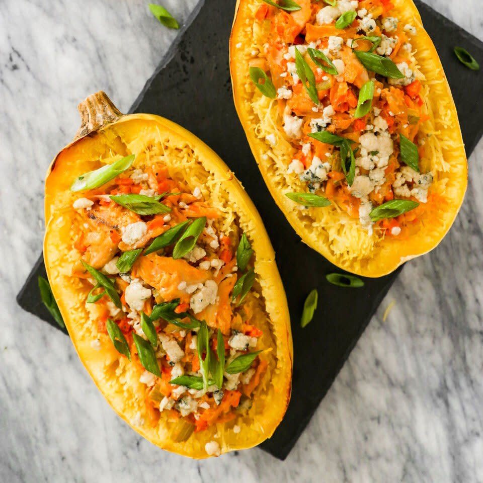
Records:
M277 254L293 330L293 397L274 436L261 445L283 459L329 390L400 269L377 280L366 279L364 288L350 292L351 302L347 303L348 289L325 281L325 274L339 270L301 243L272 201L231 97L228 37L234 4L234 0L206 2L179 48L175 47L160 64L131 111L159 114L194 132L235 172L262 215ZM452 49L455 45L465 47L483 64L483 43L426 5L417 4L452 86L469 155L483 134L483 83L479 73L459 64ZM39 274L45 274L41 259L19 293L18 303L57 327L39 301ZM320 295L319 308L311 324L302 330L299 318L303 300L314 287ZM317 386L311 384L307 391L306 377L314 373Z

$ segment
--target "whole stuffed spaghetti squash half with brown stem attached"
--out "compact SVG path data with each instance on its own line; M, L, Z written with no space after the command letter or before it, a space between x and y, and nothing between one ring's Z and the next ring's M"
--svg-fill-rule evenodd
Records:
M44 259L79 357L152 443L193 458L269 438L292 343L274 253L221 159L104 93L46 179Z

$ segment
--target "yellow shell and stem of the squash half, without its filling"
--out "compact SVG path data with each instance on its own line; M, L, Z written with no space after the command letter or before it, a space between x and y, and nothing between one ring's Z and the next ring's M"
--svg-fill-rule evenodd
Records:
M222 160L196 136L179 125L149 114L121 115L104 93L90 96L79 105L83 127L74 142L55 157L45 183L44 260L55 299L74 347L99 390L116 413L144 438L159 446L192 458L206 458L205 444L215 439L221 452L250 448L269 438L285 414L291 389L292 338L287 301L274 262L270 240L249 196ZM238 224L249 237L255 251L255 272L260 299L265 304L262 325L270 332L273 355L266 374L256 389L254 404L243 416L218 423L206 431L193 433L179 441L176 422L161 413L158 422L149 424L144 392L139 382L141 370L121 356L107 335L98 333L96 304L86 304L89 289L72 277L73 263L79 255L72 249L72 227L77 222L72 202L79 193L71 193L74 178L97 169L101 159L136 154L134 167L142 160L147 146L162 143L193 152L194 164L177 168L180 176L209 188L211 201L223 208L227 226L237 216ZM112 157L114 156L114 158ZM89 305L89 307L87 306ZM91 345L99 339L101 348ZM237 434L233 426L241 431Z

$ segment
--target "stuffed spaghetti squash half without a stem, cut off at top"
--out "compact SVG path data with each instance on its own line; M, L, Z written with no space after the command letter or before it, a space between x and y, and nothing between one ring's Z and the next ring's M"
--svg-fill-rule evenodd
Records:
M305 243L367 277L439 244L467 164L412 0L238 0L230 70L260 171Z

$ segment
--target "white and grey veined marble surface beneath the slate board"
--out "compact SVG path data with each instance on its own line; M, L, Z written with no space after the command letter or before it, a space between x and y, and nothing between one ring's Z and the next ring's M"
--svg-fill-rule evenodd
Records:
M164 0L183 20L196 3ZM483 39L479 0L428 3ZM41 249L44 172L76 130L75 105L104 89L127 110L176 35L146 4L0 2L0 481L483 481L483 143L455 227L405 268L284 462L259 449L203 462L159 451L114 415L65 336L16 305Z

